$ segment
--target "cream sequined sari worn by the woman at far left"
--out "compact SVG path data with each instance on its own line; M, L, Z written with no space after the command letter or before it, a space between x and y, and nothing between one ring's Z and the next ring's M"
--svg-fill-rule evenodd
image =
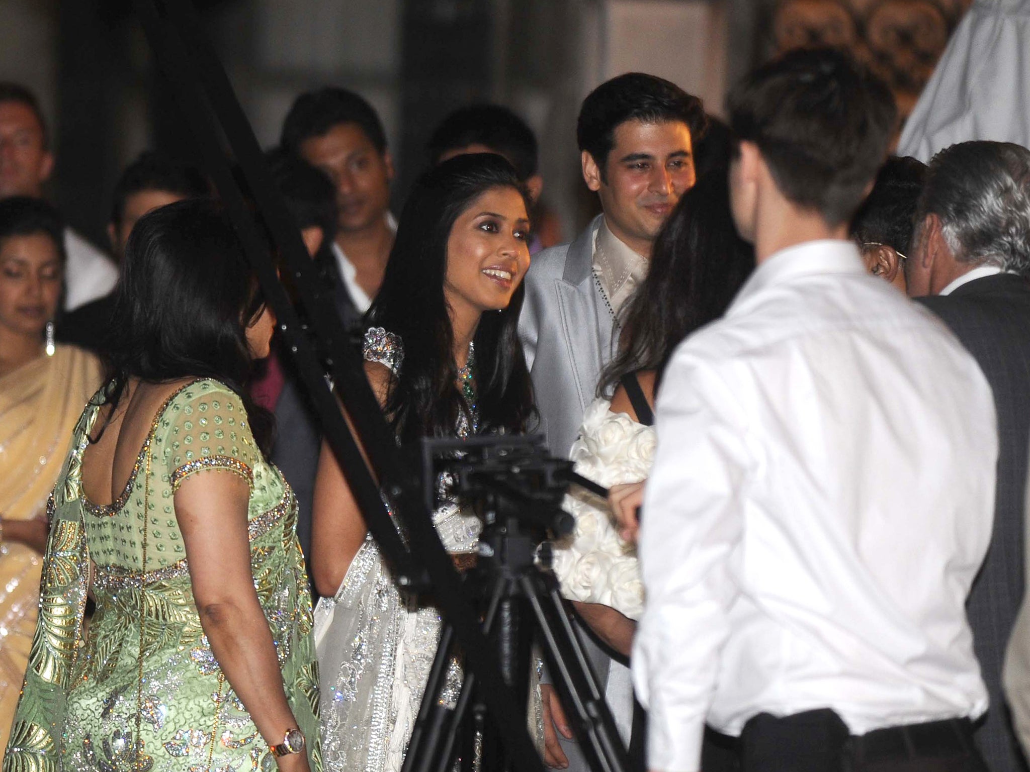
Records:
M0 378L0 517L45 517L46 499L68 453L72 430L101 384L100 362L58 346ZM21 543L0 543L0 748L7 746L36 630L43 558Z

